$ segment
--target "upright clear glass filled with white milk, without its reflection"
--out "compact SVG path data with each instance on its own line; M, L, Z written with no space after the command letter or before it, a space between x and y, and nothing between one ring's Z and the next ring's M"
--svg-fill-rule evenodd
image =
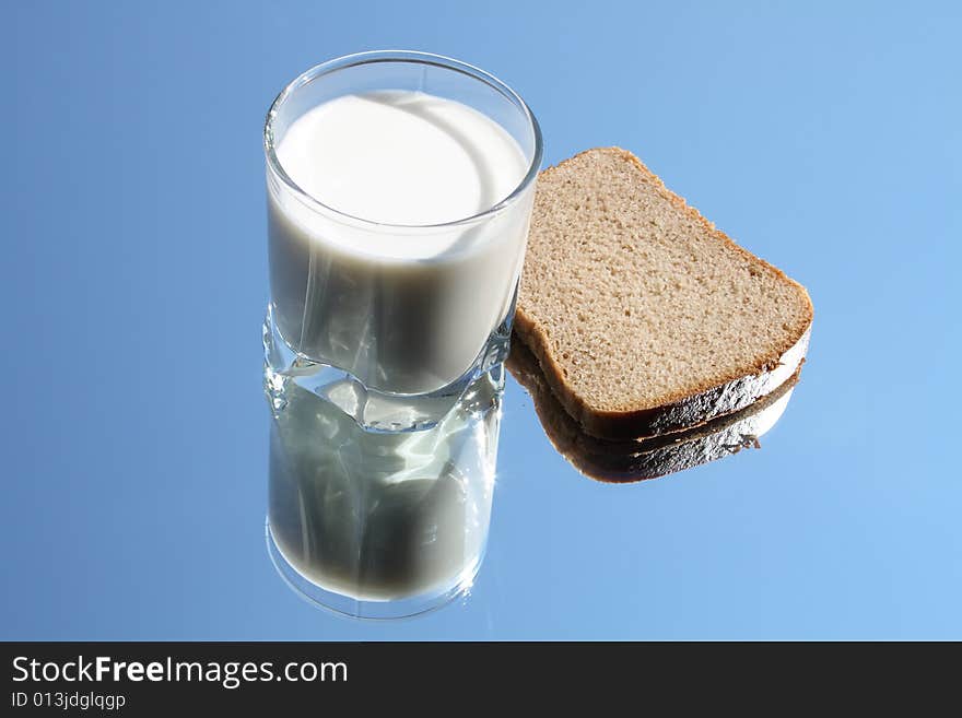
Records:
M266 387L366 429L427 429L508 350L541 134L464 62L376 51L317 66L265 127Z

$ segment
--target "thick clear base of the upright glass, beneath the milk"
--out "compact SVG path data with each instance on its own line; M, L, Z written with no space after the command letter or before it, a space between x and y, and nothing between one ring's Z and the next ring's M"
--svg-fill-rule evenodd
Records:
M419 432L433 428L462 399L483 374L507 358L511 318L491 333L471 367L445 387L421 395L396 395L364 386L349 372L307 358L292 350L281 336L268 306L263 320L263 388L273 409L286 402L288 386L294 382L338 407L359 426L371 432Z

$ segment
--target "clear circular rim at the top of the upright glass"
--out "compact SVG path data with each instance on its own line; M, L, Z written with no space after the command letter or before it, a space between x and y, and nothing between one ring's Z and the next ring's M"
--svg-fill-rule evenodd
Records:
M520 179L518 185L511 191L511 193L508 193L508 196L504 199L495 202L492 207L470 216L432 224L399 224L392 222L376 222L374 220L368 220L363 216L342 212L341 210L324 203L318 198L303 190L297 185L297 183L295 183L291 178L291 176L288 175L288 173L284 170L275 152L273 122L278 113L280 111L281 106L294 92L313 82L317 78L320 78L336 70L342 70L345 68L352 68L361 64L371 64L376 62L411 62L415 64L429 64L433 67L444 68L445 70L460 72L461 74L466 74L474 80L488 84L493 90L500 92L502 95L505 95L515 106L517 106L528 121L528 126L530 127L531 133L533 136L535 146L533 152L531 153L531 160L528 165L528 170L525 173L525 176ZM289 190L291 190L302 202L304 202L308 207L318 209L322 212L329 212L337 217L349 221L352 224L360 223L361 225L366 225L371 227L398 229L435 229L443 227L454 227L462 224L473 224L476 222L479 222L480 220L497 214L504 208L513 204L514 201L535 181L535 178L538 176L538 172L541 169L541 160L544 148L541 137L541 127L538 125L538 120L535 117L535 114L531 111L531 108L528 107L528 104L517 92L512 90L511 86L495 78L490 72L485 72L481 68L469 64L467 62L462 62L461 60L456 60L454 58L445 57L443 55L434 55L432 52L422 52L419 50L368 50L365 52L344 55L332 60L321 62L320 64L316 64L313 68L305 70L296 78L294 78L291 82L289 82L274 98L273 103L271 103L270 109L267 113L267 118L263 122L263 152L267 156L267 163L270 170L284 184L284 186Z

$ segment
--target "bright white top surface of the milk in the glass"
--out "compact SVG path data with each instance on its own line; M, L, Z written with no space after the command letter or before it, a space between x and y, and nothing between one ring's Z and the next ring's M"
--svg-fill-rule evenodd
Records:
M484 115L397 91L315 107L288 130L278 158L324 204L387 224L442 224L478 214L511 195L527 169L517 143ZM367 249L421 254L414 243Z

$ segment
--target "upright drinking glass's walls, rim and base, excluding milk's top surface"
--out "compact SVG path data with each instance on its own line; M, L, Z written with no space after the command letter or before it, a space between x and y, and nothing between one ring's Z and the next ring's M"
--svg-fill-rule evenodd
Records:
M482 113L515 140L527 172L506 197L442 224L385 224L325 204L291 179L275 150L310 109L378 91L423 92ZM461 132L442 129L456 140ZM325 62L295 79L271 106L263 137L268 391L283 402L296 384L377 431L436 424L473 380L507 356L541 165L535 116L483 70L424 52L375 51ZM391 244L409 249L400 257L368 250Z

